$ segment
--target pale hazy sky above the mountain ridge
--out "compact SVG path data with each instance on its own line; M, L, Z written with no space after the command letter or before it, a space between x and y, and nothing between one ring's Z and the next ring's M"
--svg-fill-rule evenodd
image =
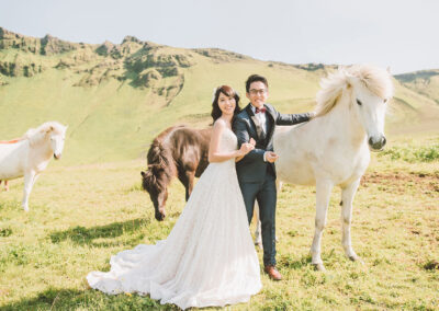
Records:
M439 68L438 0L0 0L0 26L71 42L126 35L290 64Z

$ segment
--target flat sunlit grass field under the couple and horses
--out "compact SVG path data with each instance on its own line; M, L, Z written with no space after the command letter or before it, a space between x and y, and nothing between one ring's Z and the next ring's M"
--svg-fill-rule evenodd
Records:
M229 309L439 309L439 157L416 156L423 148L437 154L439 137L389 145L387 153L373 154L354 200L352 244L364 264L344 256L335 189L323 238L327 272L313 269L314 188L286 185L277 211L284 279L263 275L261 292ZM415 156L394 156L405 149ZM167 218L157 222L140 188L144 165L53 162L31 194L29 214L20 207L21 180L0 192L0 310L177 309L137 295L106 296L85 281L91 270L108 270L112 254L165 239L177 221L182 186L172 184Z

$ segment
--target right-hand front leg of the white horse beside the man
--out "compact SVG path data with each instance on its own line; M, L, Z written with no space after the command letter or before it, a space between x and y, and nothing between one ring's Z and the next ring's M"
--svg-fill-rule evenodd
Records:
M352 250L352 244L350 240L350 221L352 218L352 200L356 195L358 185L360 184L360 178L342 188L341 191L341 229L342 238L341 245L345 249L345 254L351 260L357 261L359 257Z

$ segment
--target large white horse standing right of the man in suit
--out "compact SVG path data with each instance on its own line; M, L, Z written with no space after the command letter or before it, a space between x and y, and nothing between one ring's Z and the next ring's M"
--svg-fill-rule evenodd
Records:
M386 70L362 65L339 69L323 79L320 87L316 117L297 126L279 127L273 147L279 156L278 182L316 186L311 253L312 264L324 270L320 240L330 192L337 185L342 191L341 243L350 260L359 260L350 238L352 200L369 165L369 149L381 150L386 142L384 118L393 83Z

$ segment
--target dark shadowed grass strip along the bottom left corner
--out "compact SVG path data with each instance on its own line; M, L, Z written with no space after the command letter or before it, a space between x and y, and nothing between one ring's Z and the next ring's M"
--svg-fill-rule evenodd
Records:
M161 306L149 297L138 295L110 296L100 291L49 288L36 297L22 299L0 310L179 310L173 304Z

